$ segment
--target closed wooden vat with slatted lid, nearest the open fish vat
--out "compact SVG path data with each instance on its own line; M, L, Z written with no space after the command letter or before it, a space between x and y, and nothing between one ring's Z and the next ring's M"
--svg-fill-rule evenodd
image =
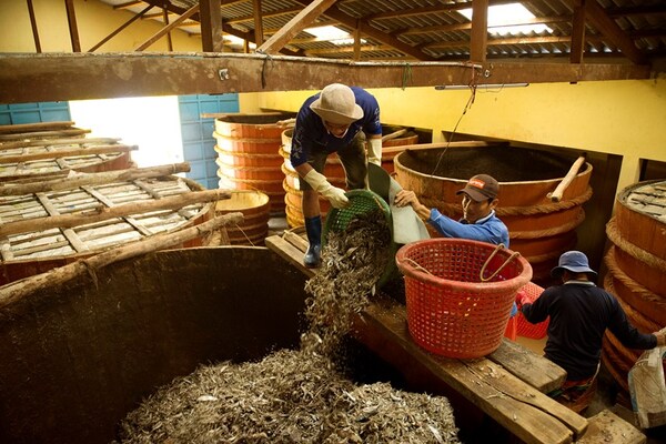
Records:
M199 183L175 175L142 180L114 181L26 195L0 196L2 230L8 224L43 221L81 212L101 212L131 203L157 202L193 191L203 191ZM1 244L2 272L0 284L62 266L101 251L138 242L159 233L194 226L213 216L213 203L194 203L171 210L142 211L121 218L67 228L12 230ZM4 233L4 231L2 231ZM200 246L202 239L182 246Z

